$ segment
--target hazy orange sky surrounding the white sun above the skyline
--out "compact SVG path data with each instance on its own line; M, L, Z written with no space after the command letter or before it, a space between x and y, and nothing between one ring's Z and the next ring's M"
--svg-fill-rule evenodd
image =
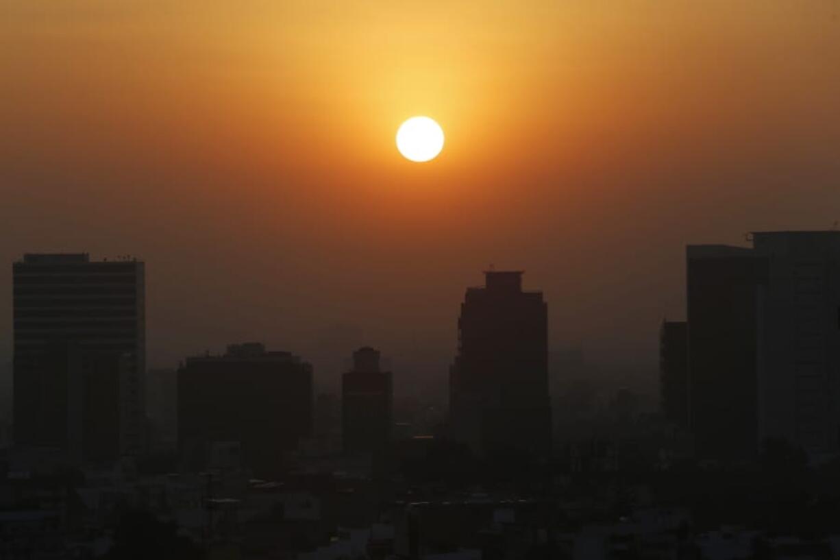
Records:
M25 251L147 263L149 362L263 340L442 378L521 268L656 363L686 243L840 219L840 5L0 0L0 341ZM414 114L442 155L405 161Z

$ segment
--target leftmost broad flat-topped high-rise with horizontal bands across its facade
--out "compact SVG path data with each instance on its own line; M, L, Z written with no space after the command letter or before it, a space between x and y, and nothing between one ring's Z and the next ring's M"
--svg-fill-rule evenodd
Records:
M13 263L14 441L111 460L143 445L144 263Z

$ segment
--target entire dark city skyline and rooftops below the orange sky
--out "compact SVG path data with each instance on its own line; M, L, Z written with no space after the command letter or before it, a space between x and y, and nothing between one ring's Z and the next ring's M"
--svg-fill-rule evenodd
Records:
M407 406L376 341L340 394L259 341L147 370L144 262L25 254L0 558L840 557L840 231L751 242L686 248L651 404L549 351L520 271Z

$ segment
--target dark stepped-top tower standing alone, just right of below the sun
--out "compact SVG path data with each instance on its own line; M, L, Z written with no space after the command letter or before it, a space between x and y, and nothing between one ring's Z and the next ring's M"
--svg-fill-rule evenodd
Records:
M522 291L522 272L485 272L467 288L450 370L449 424L454 439L479 454L543 454L551 446L548 306Z

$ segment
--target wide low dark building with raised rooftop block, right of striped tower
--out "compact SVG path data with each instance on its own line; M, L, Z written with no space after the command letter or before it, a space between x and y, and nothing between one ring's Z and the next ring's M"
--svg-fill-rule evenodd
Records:
M186 358L177 391L187 468L204 468L214 445L239 442L244 467L276 476L284 456L312 436L312 366L289 352L252 342Z

